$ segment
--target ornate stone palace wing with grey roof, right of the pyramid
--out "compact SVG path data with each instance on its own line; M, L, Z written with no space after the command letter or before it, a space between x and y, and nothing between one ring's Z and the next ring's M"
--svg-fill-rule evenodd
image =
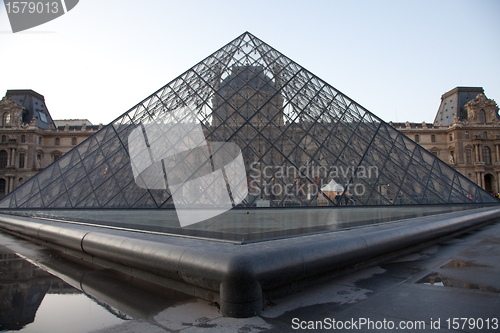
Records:
M457 87L444 94L434 124L406 122L392 125L495 194L500 192L500 117L497 103L480 91L483 89ZM475 97L464 98L467 94ZM445 126L440 112L450 104L457 110L450 113L452 122Z

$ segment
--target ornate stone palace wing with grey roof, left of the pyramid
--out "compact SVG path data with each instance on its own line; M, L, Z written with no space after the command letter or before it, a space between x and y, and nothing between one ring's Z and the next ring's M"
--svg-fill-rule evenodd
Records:
M0 197L102 127L89 126L88 120L52 121L44 97L32 90L7 91L0 117ZM75 122L79 125L70 125Z

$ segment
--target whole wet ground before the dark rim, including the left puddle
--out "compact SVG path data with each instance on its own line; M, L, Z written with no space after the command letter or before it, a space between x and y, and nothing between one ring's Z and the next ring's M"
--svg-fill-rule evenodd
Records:
M4 331L500 332L500 222L268 302L247 319L4 233L0 255Z

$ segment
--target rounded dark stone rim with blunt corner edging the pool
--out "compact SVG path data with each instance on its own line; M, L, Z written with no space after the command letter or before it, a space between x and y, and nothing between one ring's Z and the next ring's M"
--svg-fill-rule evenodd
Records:
M0 228L93 269L219 303L222 315L242 318L260 314L265 301L499 218L500 208L490 207L245 245L4 214Z

